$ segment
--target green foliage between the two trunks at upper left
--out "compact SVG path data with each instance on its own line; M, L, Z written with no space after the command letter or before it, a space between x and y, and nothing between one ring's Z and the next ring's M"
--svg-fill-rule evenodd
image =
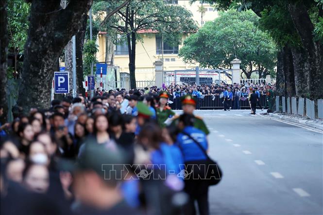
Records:
M9 52L17 50L23 52L27 39L29 26L28 15L30 3L21 0L9 0L8 2L8 33L9 33Z

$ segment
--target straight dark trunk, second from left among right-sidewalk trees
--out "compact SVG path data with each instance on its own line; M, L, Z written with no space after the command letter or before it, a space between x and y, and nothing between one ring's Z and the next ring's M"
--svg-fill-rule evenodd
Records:
M288 46L285 46L283 50L286 92L291 97L296 94L293 57Z

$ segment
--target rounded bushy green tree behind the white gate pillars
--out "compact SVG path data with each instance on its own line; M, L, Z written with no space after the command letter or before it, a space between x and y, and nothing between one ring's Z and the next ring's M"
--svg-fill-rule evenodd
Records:
M239 58L240 68L249 79L255 71L259 78L273 72L276 46L271 37L257 27L255 13L229 10L219 15L184 41L179 56L185 62L195 61L201 66L219 69L231 68L230 61Z

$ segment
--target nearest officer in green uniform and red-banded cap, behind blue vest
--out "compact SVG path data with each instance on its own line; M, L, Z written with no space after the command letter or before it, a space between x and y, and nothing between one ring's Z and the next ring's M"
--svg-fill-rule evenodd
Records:
M193 112L196 108L196 100L191 97L190 95L186 95L184 97L181 98L182 101L182 109L183 112L185 114L190 114L193 115ZM193 115L194 116L194 115ZM208 135L210 132L209 130L206 128L206 125L203 121L203 119L200 116L194 116L195 120L194 120L194 127L197 129L200 129L201 131L203 131L206 135ZM178 120L179 117L175 116L172 122L172 125L178 125Z

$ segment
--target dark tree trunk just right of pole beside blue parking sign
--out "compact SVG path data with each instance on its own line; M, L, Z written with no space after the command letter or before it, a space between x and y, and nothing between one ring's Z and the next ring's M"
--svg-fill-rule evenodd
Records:
M84 74L83 74L83 48L86 32L87 17L83 20L83 26L76 34L76 83L78 86L78 93L85 96L85 88L83 87Z

